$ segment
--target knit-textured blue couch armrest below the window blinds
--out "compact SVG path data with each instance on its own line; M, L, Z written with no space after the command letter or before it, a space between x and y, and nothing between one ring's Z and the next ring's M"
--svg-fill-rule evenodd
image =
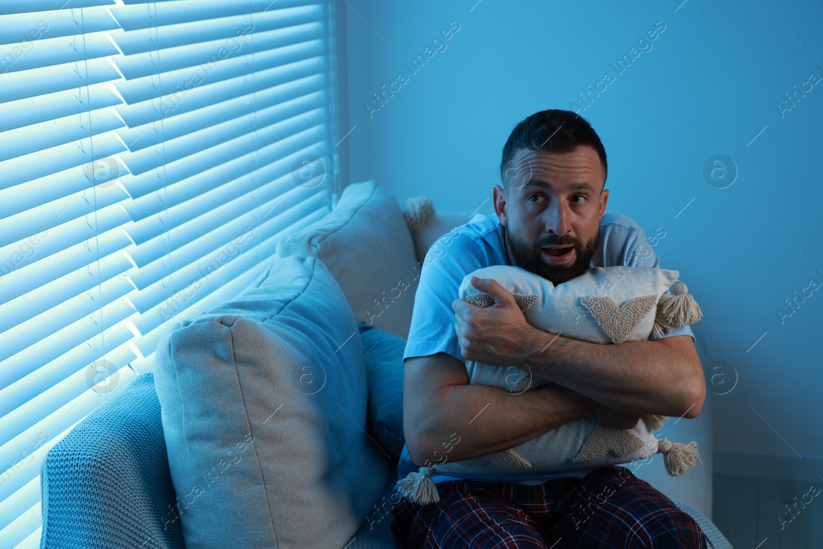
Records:
M183 549L151 373L91 412L40 468L49 549Z

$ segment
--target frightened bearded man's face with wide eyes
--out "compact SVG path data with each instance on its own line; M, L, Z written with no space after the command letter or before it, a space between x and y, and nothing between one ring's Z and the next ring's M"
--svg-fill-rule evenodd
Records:
M609 195L597 152L518 149L504 178L494 199L509 261L554 285L586 272Z

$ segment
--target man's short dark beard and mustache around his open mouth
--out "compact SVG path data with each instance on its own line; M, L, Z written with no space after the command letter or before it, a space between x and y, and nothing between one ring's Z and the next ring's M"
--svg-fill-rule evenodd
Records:
M546 278L546 280L557 286L588 271L592 257L597 252L597 244L600 241L600 227L597 227L597 233L588 242L576 240L572 236L546 235L536 244L528 244L523 240L518 240L517 237L506 230L506 226L503 226L503 240L509 258L516 267ZM542 247L546 246L574 246L574 262L570 265L561 266L546 265L540 251Z

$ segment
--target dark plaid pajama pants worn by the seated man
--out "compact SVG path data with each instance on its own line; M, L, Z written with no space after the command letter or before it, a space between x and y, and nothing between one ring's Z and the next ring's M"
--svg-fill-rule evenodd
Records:
M399 497L391 530L409 549L706 549L695 520L628 468L537 486L473 480L438 482L440 500Z

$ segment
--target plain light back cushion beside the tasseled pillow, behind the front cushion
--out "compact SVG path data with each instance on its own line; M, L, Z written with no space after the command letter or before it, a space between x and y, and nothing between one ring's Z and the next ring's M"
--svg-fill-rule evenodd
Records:
M357 322L408 337L421 265L393 193L374 181L350 184L332 212L280 240L277 254L323 259Z

